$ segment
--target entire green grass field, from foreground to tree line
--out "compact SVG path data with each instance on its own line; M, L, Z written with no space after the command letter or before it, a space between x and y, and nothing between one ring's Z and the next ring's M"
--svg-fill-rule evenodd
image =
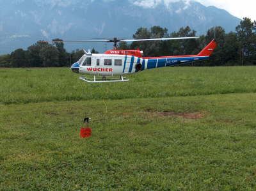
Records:
M173 67L86 84L67 68L0 69L0 190L255 190L255 74Z

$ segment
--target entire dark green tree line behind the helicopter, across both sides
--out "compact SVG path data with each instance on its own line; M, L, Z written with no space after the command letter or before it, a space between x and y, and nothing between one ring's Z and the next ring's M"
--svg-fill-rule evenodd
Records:
M154 26L150 29L140 27L133 38L168 38L196 36L189 26L168 33L168 29ZM207 43L215 39L218 46L207 61L192 63L194 66L234 66L256 65L256 22L249 18L241 20L236 32L226 33L223 27L212 27L205 35L191 40L165 40L151 42L122 42L118 49L140 49L144 56L175 56L198 54ZM61 39L54 39L61 40ZM92 52L97 52L94 49ZM83 50L68 53L63 42L36 42L28 50L17 49L11 54L0 56L0 67L58 67L70 66L81 56Z

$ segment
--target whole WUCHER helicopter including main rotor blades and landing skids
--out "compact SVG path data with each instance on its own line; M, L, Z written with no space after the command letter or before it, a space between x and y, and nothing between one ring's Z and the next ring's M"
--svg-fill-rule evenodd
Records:
M92 54L90 50L84 50L84 55L74 63L70 69L72 72L93 75L93 78L84 76L79 79L90 83L102 82L127 82L129 79L124 77L131 73L159 68L164 66L179 65L180 63L191 63L208 59L216 47L215 40L212 40L201 52L196 55L184 56L159 56L143 57L143 51L137 50L119 50L118 42L136 42L152 40L187 40L199 38L176 37L176 38L150 38L150 39L106 39L106 40L80 40L80 41L42 41L42 42L111 42L114 43L113 49L104 52L104 54ZM115 77L116 75L120 77Z

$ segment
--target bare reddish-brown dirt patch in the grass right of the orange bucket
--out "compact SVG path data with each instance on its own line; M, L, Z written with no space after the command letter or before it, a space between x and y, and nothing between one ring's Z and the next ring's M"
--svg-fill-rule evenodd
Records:
M200 112L172 112L172 111L164 111L164 112L152 112L152 114L156 114L158 116L163 117L172 117L172 116L180 116L186 119L199 119L204 117L204 114Z

